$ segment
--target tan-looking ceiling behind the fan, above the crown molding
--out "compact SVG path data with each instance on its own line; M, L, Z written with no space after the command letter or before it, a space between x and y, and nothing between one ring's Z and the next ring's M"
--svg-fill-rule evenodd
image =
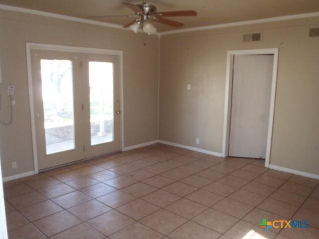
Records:
M142 3L142 0L0 0L0 4L85 19L91 15L131 14L132 11L122 5L123 2L138 4ZM197 11L197 16L167 17L183 22L185 25L181 29L319 11L319 0L149 0L147 2L156 5L158 11ZM119 25L132 21L123 17L96 20ZM159 23L155 25L158 31L176 30L174 27Z

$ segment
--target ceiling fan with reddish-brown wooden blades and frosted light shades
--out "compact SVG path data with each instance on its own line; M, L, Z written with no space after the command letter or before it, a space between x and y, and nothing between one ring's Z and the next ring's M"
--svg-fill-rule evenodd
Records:
M166 16L196 16L197 12L193 10L184 10L184 11L163 11L157 12L157 7L155 5L146 3L146 0L141 4L131 4L131 3L123 3L125 6L129 7L133 10L133 14L131 15L115 15L115 16L89 16L93 17L132 17L135 18L132 22L125 25L124 27L130 27L135 33L139 31L139 29L143 29L144 32L149 35L155 34L157 29L152 24L152 21L156 21L165 25L173 26L173 27L181 27L184 24L178 21L173 21L167 18Z

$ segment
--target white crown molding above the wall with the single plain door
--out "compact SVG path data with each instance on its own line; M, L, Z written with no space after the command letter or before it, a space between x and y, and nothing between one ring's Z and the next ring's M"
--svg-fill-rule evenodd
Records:
M182 33L182 32L201 31L201 30L209 30L209 29L216 29L216 28L223 28L223 27L251 25L251 24L256 24L256 23L283 21L283 20L316 17L316 16L319 16L319 11L310 12L310 13L303 13L303 14L296 14L296 15L270 17L270 18L263 18L263 19L249 20L249 21L237 21L237 22L230 22L230 23L223 23L223 24L216 24L216 25L191 27L191 28L185 28L185 29L173 30L173 31L163 31L163 32L159 32L158 35L163 36L163 35L170 35L170 34L176 34L176 33Z

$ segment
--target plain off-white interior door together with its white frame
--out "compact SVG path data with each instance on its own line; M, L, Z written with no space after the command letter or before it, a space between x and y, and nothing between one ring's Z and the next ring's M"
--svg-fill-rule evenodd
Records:
M269 167L278 49L227 52L222 154L265 158Z

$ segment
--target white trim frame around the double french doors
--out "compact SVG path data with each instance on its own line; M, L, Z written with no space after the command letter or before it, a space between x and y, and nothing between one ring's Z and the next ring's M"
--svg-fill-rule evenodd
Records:
M26 43L26 64L28 74L28 86L29 86L29 103L31 114L31 133L32 133L32 151L34 162L34 174L39 172L38 169L38 156L37 156L37 142L35 134L35 119L34 119L34 100L33 100L33 83L31 72L31 50L49 50L49 51L65 51L76 53L91 53L91 54L104 54L120 57L120 94L121 94L121 148L124 147L124 96L123 96L123 51L119 50L107 50L88 47L75 47L75 46L63 46L63 45L50 45L40 43Z

